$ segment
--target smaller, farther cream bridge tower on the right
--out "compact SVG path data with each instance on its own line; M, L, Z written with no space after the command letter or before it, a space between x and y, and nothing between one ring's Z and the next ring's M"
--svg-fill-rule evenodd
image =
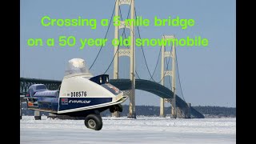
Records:
M174 39L174 35L163 35L163 39ZM175 56L176 56L176 50L174 44L172 45L172 50L171 51L166 51L165 46L162 45L162 62L161 62L161 84L164 86L164 77L170 76L172 79L171 83L171 90L174 92L174 97L172 99L166 99L166 98L161 98L160 99L160 117L166 117L164 114L164 108L165 108L165 102L171 102L171 116L174 118L177 117L176 114L176 94L175 94ZM172 69L171 70L165 70L165 59L170 57L172 60Z

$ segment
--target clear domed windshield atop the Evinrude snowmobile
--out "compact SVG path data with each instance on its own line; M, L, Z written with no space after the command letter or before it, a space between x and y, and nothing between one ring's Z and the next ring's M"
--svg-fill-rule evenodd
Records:
M81 58L73 58L68 62L65 75L69 74L90 74L88 67L86 66L85 60Z

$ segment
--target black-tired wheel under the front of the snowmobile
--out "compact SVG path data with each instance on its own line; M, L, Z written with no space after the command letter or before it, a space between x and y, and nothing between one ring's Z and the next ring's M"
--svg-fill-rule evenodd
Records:
M98 114L89 114L86 117L85 125L89 129L102 130L102 117Z

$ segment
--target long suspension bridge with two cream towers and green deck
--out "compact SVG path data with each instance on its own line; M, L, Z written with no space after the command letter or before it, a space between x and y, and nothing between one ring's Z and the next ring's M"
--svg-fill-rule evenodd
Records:
M167 46L160 46L154 71L153 73L150 72L150 66L153 65L150 64L149 66L149 63L146 60L146 54L144 52L146 48L143 46L138 47L134 44L134 39L136 37L141 38L139 26L134 26L133 22L131 22L130 25L126 25L125 19L122 17L122 5L129 6L126 19L138 18L134 0L116 0L110 23L113 21L113 17L116 16L121 18L121 25L114 26L114 34L111 34L111 36L114 36L114 38L117 39L120 36L123 38L129 36L130 46L122 47L119 43L118 46L114 46L114 51L111 51L112 49L108 48L108 52L103 52L105 49L103 48L104 46L101 46L98 50L98 54L96 54L94 58L94 62L90 65L90 70L94 70L94 68L97 67L97 63L100 63L99 66L106 66L106 70L102 73L110 74L110 78L112 77L110 83L129 95L130 110L129 114L127 114L128 118L136 118L135 90L144 90L160 97L160 117L166 116L166 114L164 114L164 106L165 103L168 102L170 103L172 118L204 118L202 114L197 110L194 110L190 103L185 101L183 96L178 72L176 47L174 45L170 46L170 48ZM110 35L110 23L106 30L105 38ZM174 39L175 37L174 34L165 34L162 35L162 38ZM113 56L110 58L109 64L106 64L104 63L106 60L103 61L101 58L106 58L106 55L109 56L110 51ZM122 58L125 59L122 60ZM140 60L139 58L143 58L143 60ZM127 74L128 70L130 70L129 74ZM123 76L122 71L124 74ZM141 74L140 71L142 71L143 74ZM145 77L145 73L148 74L149 78L142 78L142 76ZM61 85L61 81L56 80L20 78L20 95L25 95L29 86L35 83L43 83L49 90L57 90ZM38 115L38 112L35 112L35 114ZM113 116L118 117L118 112L115 112Z

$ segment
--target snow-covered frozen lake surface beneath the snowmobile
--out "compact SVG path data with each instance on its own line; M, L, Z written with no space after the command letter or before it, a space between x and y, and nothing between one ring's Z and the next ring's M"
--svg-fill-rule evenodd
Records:
M21 143L236 143L236 118L102 119L102 130L95 131L83 120L23 116Z

